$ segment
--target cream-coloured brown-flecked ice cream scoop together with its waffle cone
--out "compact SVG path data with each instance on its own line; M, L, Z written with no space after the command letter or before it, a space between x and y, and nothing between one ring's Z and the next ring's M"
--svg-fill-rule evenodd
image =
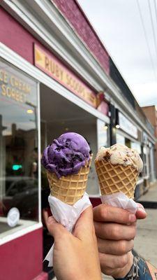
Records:
M101 147L95 160L96 172L102 195L122 192L134 197L135 186L143 162L139 153L122 144Z

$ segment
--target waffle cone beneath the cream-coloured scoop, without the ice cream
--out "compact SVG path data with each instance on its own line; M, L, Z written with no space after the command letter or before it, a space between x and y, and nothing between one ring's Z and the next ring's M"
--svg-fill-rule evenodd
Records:
M138 172L132 166L112 165L110 162L96 160L96 173L100 183L101 195L122 192L128 198L134 197Z

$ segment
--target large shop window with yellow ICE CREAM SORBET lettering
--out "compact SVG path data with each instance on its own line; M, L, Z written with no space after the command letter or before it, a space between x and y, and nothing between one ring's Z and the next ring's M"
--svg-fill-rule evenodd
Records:
M0 61L0 237L38 221L37 110L37 83Z

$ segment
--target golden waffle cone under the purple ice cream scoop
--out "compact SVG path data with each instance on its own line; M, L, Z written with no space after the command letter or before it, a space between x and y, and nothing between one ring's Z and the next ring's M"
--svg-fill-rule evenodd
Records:
M47 170L51 195L70 205L80 200L87 188L91 159L84 167L81 167L80 172L77 174L61 176L59 179L54 172L52 173Z

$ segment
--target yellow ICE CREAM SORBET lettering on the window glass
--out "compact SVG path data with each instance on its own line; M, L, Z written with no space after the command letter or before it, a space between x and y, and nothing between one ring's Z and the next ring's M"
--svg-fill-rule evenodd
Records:
M3 96L25 103L31 87L17 76L0 69L0 90Z

